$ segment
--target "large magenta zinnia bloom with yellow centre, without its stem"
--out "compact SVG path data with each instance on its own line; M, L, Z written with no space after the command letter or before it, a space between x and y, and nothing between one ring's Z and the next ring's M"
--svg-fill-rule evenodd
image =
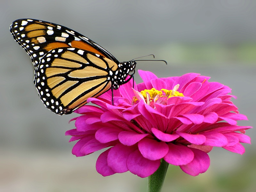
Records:
M243 154L241 143L250 143L244 135L250 126L238 126L247 120L239 114L229 95L231 89L207 76L188 73L158 78L139 70L144 83L132 81L98 98L96 106L76 110L76 129L66 132L70 141L78 140L72 153L85 156L103 148L96 170L103 176L130 171L148 177L161 159L180 166L196 176L210 166L207 155L213 147Z

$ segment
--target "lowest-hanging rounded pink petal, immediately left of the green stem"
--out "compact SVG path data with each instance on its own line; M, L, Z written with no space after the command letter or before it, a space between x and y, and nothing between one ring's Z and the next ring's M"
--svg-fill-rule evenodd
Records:
M160 166L160 160L151 161L143 157L139 149L132 152L127 158L129 171L139 177L145 178L152 175Z

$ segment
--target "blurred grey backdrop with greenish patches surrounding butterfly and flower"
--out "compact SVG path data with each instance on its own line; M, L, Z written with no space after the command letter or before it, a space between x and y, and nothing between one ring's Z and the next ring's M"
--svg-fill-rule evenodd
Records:
M12 21L33 18L72 28L119 61L155 54L162 62L138 62L136 69L158 77L188 72L211 76L231 87L232 101L254 126L256 1L251 0L3 0L0 3L0 191L146 191L147 179L130 172L102 177L100 152L76 158L68 143L68 121L44 107L33 84L29 56L9 32ZM141 82L138 73L135 81ZM243 156L214 148L207 172L197 177L169 166L163 192L255 191L254 130L246 133ZM102 151L101 151L102 152Z

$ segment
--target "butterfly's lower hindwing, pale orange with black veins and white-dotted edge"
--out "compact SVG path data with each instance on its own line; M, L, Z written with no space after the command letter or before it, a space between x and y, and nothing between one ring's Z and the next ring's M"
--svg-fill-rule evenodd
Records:
M52 112L72 113L111 86L110 74L116 63L99 54L78 48L56 48L46 53L36 70L36 88L44 105Z

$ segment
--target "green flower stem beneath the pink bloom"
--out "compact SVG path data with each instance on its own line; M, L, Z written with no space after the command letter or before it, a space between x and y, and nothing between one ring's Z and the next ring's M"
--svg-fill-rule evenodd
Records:
M159 168L152 175L148 177L148 192L160 192L163 184L164 178L168 169L169 163L166 161L161 162Z

